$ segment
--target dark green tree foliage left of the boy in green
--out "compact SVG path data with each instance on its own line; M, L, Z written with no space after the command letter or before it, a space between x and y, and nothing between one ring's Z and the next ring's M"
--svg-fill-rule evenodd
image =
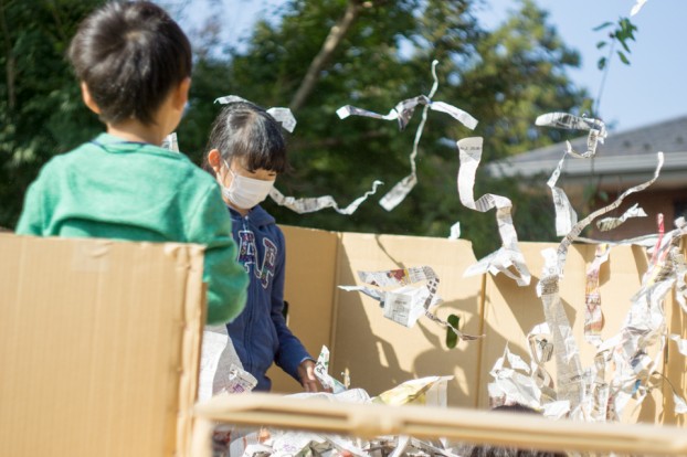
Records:
M47 159L99 128L64 56L98 3L0 0L0 226L14 227L25 189Z

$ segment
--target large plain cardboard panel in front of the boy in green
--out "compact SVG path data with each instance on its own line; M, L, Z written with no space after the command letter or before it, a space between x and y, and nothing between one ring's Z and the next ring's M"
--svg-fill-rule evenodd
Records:
M181 454L202 248L0 235L0 454Z

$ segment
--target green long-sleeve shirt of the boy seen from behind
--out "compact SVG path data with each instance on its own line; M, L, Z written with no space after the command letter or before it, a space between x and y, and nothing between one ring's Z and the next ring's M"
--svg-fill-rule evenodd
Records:
M208 323L245 306L249 278L219 187L181 153L102 134L43 167L17 233L203 244Z

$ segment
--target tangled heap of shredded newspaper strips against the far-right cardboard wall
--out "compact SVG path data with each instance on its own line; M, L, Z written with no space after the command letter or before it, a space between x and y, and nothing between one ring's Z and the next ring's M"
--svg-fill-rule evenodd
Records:
M658 217L658 223L662 222ZM667 339L675 341L678 351L687 355L687 340L678 334L666 334L664 311L664 300L673 289L676 276L684 276L686 268L679 242L687 234L687 224L680 217L675 221L675 225L677 228L656 240L642 286L631 299L631 309L620 332L598 347L592 366L581 369L569 322L564 315L557 313L557 309L562 310L559 306L558 281L545 281L541 288L542 300L547 300L547 322L536 326L528 334L530 369L518 357L509 353L506 347L504 355L492 370L495 378L488 386L492 405L521 403L552 418L619 421L630 400L634 398L635 407L638 407L653 389L660 389L662 383L667 383L672 389L675 413L687 414L685 398L658 371ZM660 232L659 226L659 235ZM609 246L612 248L614 245ZM601 247L594 263L601 264L607 251L609 247ZM552 269L545 267L545 273L554 272L559 258L556 251L545 251L545 257L548 257L547 264L552 266ZM556 347L558 387L550 389L551 393L548 394L548 387L552 384L549 383L550 376L543 363L551 354L550 337L553 337ZM571 339L567 340L567 337ZM509 368L505 366L506 361ZM658 382L656 376L660 378ZM569 383L573 385L569 386Z

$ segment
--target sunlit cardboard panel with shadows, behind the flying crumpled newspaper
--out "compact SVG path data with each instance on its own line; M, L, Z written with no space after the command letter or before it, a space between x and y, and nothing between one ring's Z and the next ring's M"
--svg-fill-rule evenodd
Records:
M337 285L360 285L358 270L429 265L441 280L438 294L445 301L436 309L437 316L457 315L466 333L482 330L483 278L463 277L475 262L466 241L344 233L337 262ZM378 395L410 379L454 375L448 403L476 405L480 341L462 341L447 349L443 327L421 318L413 328L405 328L384 318L379 302L360 293L337 289L335 308L334 376L340 379L348 369L352 387Z

